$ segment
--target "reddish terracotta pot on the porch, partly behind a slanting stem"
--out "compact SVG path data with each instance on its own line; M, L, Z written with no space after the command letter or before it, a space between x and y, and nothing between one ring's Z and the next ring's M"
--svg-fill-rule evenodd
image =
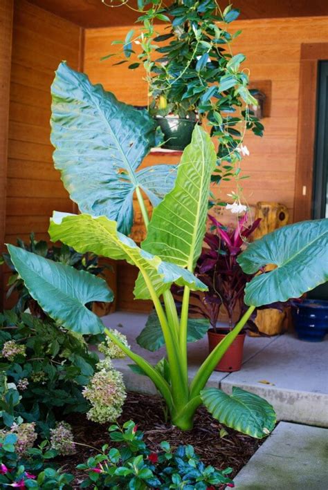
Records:
M220 329L220 333L214 330L208 330L208 350L212 350L221 342L228 330ZM239 371L242 367L243 352L244 352L245 334L238 334L231 346L228 348L221 361L217 364L215 371L223 371L224 373L233 373Z

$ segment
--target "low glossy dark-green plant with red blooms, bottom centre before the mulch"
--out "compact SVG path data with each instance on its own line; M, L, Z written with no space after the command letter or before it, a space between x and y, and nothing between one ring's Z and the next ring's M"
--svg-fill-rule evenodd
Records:
M119 443L118 449L106 444L102 453L89 458L86 464L78 465L78 469L88 474L81 488L94 484L99 489L206 490L210 486L232 484L228 478L231 468L217 471L212 466L206 467L190 444L180 444L172 449L167 441L163 441L160 451L150 451L143 440L143 433L131 420L122 428L110 426L109 437Z

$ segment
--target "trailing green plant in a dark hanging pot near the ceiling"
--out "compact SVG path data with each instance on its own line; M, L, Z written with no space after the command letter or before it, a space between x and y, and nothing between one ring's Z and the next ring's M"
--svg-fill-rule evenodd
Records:
M129 7L129 1L124 1ZM140 28L129 30L118 52L116 64L145 68L148 84L148 110L164 133L162 148L179 149L190 143L194 125L210 126L219 141L218 164L241 159L238 151L246 129L262 135L263 126L248 109L257 104L248 91L248 75L240 68L245 56L233 55L228 26L239 16L229 5L223 12L217 1L138 1ZM155 22L166 23L158 31ZM217 169L215 178L230 169Z

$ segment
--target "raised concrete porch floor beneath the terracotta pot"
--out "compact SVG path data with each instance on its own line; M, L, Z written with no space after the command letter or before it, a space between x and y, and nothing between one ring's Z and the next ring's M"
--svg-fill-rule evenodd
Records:
M132 350L151 364L165 355L164 348L149 352L135 341L145 326L147 315L116 312L103 321L109 328L118 328L126 334ZM207 338L190 343L188 352L192 379L208 354ZM152 381L132 373L128 364L131 361L127 358L115 361L127 388L156 393ZM226 393L230 393L233 386L239 386L273 404L278 420L328 427L328 336L320 343L300 341L291 334L246 337L242 370L230 374L214 372L208 386L217 386Z

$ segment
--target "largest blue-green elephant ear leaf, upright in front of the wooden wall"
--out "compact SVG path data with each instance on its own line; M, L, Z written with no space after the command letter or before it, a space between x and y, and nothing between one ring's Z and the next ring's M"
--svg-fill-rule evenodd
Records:
M51 93L53 159L71 199L80 211L107 216L129 234L136 187L156 206L176 177L173 165L138 170L155 146L154 119L66 63L58 67Z

